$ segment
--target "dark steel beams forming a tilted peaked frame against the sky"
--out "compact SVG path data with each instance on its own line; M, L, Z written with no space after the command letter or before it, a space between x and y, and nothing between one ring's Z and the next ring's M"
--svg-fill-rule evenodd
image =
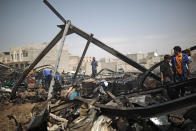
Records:
M17 88L20 85L20 83L25 79L25 77L27 76L27 74L37 65L37 63L56 45L56 43L62 38L63 36L63 31L64 28L67 24L67 21L56 11L56 9L47 1L44 0L44 3L55 13L55 15L58 16L58 18L60 18L60 20L64 23L64 25L61 25L59 27L61 27L61 31L54 37L54 39L48 44L48 46L37 56L37 58L34 60L34 62L29 66L29 68L27 70L24 71L22 77L20 78L20 80L17 82L17 84L14 86L13 91L12 91L12 95L11 95L11 99L14 98ZM101 42L100 40L96 39L95 37L92 36L92 34L88 34L85 31L79 29L78 27L74 26L73 24L70 24L69 30L67 35L70 35L72 33L76 33L77 35L83 37L84 39L90 41L91 43L95 44L96 46L102 48L103 50L107 51L108 53L116 56L117 58L121 59L122 61L128 63L129 65L137 68L138 70L145 72L147 71L147 69L143 66L141 66L140 64L138 64L137 62L131 60L130 58L126 57L125 55L123 55L122 53L116 51L115 49L107 46L106 44L104 44L103 42ZM88 43L87 43L88 45ZM86 47L88 49L88 47ZM85 49L84 51L86 52ZM84 58L84 56L82 57ZM81 61L82 61L81 58ZM151 74L151 76L153 78L155 78L156 80L160 80L160 78L157 75Z

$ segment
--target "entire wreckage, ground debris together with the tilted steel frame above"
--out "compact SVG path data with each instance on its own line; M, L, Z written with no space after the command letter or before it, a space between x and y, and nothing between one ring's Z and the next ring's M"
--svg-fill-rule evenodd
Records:
M25 70L0 64L1 128L6 130L49 131L191 131L196 129L196 72L184 81L160 84L154 71L159 62L146 69L65 20L47 1L44 3L64 23L60 32ZM61 40L71 34L87 40L74 75L57 71L56 64L35 67ZM96 78L79 74L90 44L95 44L141 73L102 69ZM189 48L189 51L196 46ZM107 72L104 75L104 72ZM178 88L185 87L185 96ZM7 119L6 122L3 119ZM11 124L10 124L11 123ZM10 129L11 128L11 129Z

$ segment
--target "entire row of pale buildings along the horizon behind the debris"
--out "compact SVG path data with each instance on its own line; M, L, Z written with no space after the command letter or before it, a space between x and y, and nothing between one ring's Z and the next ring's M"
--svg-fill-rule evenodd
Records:
M48 45L48 43L28 43L25 46L20 47L12 47L10 52L2 52L0 53L0 62L7 64L10 67L24 69L29 66L35 58L41 53L41 51ZM55 66L57 53L59 50L59 45L55 45L46 56L36 65L53 65ZM127 57L146 67L150 68L155 63L158 63L163 56L159 56L156 52L149 52L147 54L143 53L135 53L135 54L127 54ZM80 67L80 71L84 72L87 75L91 75L92 73L92 62L93 57L84 57L82 65ZM65 44L58 71L59 72L72 72L76 71L77 65L80 61L79 56L72 56L68 47ZM140 72L136 68L131 65L123 62L117 58L102 58L98 61L98 72L101 69L108 68L113 71L124 71L124 72Z

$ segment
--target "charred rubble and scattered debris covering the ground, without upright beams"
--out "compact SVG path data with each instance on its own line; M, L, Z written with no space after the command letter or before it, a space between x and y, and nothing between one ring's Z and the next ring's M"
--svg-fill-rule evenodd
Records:
M40 71L35 71L34 74L40 74ZM9 101L10 91L5 91L9 93L4 98L2 97L4 92L1 92L1 98L4 100L1 101L4 108L1 113L5 112L9 106L10 114L6 113L6 116L3 116L12 123L12 127L19 130L177 131L195 129L196 108L193 105L191 108L187 106L180 111L176 109L170 112L164 107L161 109L162 105L172 101L167 95L167 87L160 84L156 88L148 88L151 84L145 84L146 88L140 87L137 82L140 78L138 76L125 73L124 76L121 74L114 78L108 76L101 79L86 78L74 85L67 84L72 80L69 82L56 80L54 95L50 100L47 100L49 85L44 80L44 76L35 77L31 84L27 84L27 87L21 84L16 99L12 101ZM32 77L34 75L30 74L25 81ZM184 84L190 85L187 87L185 97L195 95L188 90L194 87L195 78L190 79L188 83ZM169 86L169 88L177 87L177 84ZM173 101L178 99L182 98ZM10 106L10 102L16 105ZM21 107L25 109L29 104L31 106L28 108L31 107L31 109L28 109L28 113L20 114L20 117L26 118L21 119L14 114L15 110L20 110ZM17 105L21 106L20 109L16 109ZM156 109L149 109L149 112L142 111L154 108L153 106L160 106L160 112L156 113ZM170 108L169 105L168 108ZM8 128L7 125L6 128Z

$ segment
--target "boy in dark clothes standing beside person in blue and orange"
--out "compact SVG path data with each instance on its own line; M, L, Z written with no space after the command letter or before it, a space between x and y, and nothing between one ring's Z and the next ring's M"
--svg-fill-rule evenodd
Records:
M167 84L172 82L173 79L173 72L170 66L171 62L171 56L170 55L165 55L164 56L164 61L160 65L160 72L161 72L161 83L162 84Z

